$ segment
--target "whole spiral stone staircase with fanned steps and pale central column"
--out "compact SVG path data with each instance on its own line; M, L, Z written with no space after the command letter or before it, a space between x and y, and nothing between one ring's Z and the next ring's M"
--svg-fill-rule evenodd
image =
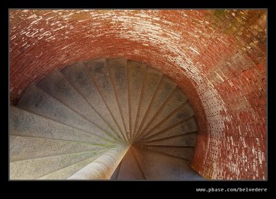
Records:
M10 180L202 180L177 84L125 58L77 62L10 106Z

